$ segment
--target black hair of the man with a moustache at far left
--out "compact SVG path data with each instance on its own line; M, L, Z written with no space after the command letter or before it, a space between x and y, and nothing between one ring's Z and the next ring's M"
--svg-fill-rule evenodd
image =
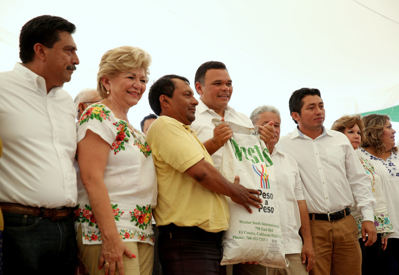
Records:
M59 33L75 32L75 25L58 16L42 15L27 21L20 34L20 59L22 63L33 60L35 51L33 46L41 43L47 48L52 48L60 40Z

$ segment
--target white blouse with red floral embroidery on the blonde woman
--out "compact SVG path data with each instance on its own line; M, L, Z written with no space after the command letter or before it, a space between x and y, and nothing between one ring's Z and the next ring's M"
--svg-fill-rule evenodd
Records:
M133 128L133 127L132 127ZM77 122L77 142L90 129L110 145L104 183L114 210L115 223L124 241L154 244L152 211L157 202L157 179L151 149L145 135L118 119L102 104L89 106ZM79 156L77 156L79 158ZM75 230L82 226L84 244L100 244L101 233L80 178L77 163L78 205ZM79 236L78 236L79 237Z

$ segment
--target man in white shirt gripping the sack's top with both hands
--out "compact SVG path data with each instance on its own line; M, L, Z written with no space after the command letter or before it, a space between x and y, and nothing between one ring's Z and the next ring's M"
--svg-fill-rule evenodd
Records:
M228 105L233 93L233 82L226 65L222 62L209 61L198 67L195 73L195 89L200 95L195 111L195 121L191 128L197 131L197 137L212 157L216 169L219 169L223 145L232 137L231 128L223 123L217 127L211 124L212 119L233 122L237 125L252 128L252 122L243 113L236 112ZM259 127L260 138L266 146L274 135L274 127ZM260 265L235 265L235 275L265 275L266 267Z

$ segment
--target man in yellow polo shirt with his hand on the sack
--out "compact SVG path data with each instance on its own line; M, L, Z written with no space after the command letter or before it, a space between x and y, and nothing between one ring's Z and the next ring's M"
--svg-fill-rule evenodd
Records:
M154 217L164 274L223 274L222 231L229 226L225 196L252 212L258 190L231 183L214 168L190 124L198 101L186 78L166 75L150 88L148 100L160 117L147 133L158 177Z

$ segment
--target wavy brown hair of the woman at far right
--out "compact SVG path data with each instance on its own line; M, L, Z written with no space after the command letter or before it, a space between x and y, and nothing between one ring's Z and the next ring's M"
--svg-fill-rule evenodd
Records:
M364 140L360 146L363 148L374 147L377 154L380 155L385 153L387 149L382 142L382 135L387 121L391 121L388 115L370 114L363 117ZM390 151L397 153L398 147L394 146Z

